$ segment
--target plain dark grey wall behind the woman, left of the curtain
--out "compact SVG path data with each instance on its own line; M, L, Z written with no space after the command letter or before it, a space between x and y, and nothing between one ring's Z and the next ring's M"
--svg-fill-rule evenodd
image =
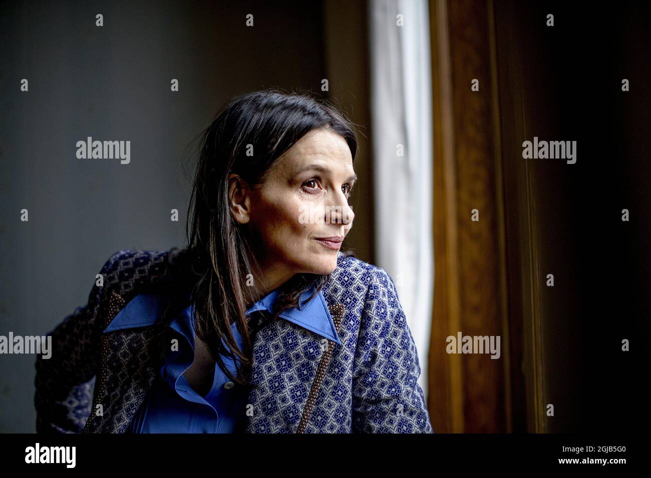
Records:
M186 146L236 94L320 93L322 15L318 1L3 2L0 334L48 332L119 249L182 245ZM130 140L130 164L77 159L88 136ZM0 361L0 431L34 431L35 356Z

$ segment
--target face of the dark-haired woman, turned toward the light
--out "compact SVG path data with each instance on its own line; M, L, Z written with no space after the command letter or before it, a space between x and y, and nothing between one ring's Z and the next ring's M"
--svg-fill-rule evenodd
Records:
M271 166L258 191L240 197L239 221L257 250L268 290L294 274L329 274L353 222L348 197L357 176L346 140L312 130ZM322 238L337 238L327 243Z

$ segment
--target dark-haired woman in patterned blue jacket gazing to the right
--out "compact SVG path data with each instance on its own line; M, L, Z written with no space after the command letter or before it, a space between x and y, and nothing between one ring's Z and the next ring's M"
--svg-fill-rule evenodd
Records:
M432 432L393 280L339 250L350 123L266 90L201 145L188 246L108 259L36 362L37 431Z

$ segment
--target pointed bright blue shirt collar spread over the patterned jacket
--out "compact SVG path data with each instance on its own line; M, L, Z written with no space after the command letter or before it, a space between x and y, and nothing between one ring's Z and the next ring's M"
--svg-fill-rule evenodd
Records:
M315 290L316 288L312 286L309 290L303 292L299 299L298 308L294 307L286 310L279 317L341 345L341 341L337 335L337 328L335 328L335 323L322 292L319 291L312 300L307 302L307 299L309 299ZM279 289L275 289L255 302L247 310L247 315L258 310L273 313L273 304L279 292ZM107 332L115 332L116 330L124 330L126 328L154 325L159 317L163 315L163 312L169 306L172 299L173 297L170 295L156 292L136 295L118 312L111 323L104 329L103 333L106 334Z

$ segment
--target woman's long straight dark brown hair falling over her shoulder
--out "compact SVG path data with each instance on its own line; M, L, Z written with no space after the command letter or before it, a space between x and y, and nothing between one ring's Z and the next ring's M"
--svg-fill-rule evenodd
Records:
M187 246L180 251L179 261L186 271L184 285L195 304L195 334L208 345L229 379L238 384L250 384L253 366L253 335L246 317L251 298L246 282L247 274L254 272L249 258L255 261L256 254L252 241L230 213L229 174L240 175L249 185L261 185L275 161L313 129L339 134L354 161L357 135L350 120L325 100L302 94L271 89L236 96L201 133L187 209ZM247 155L249 145L255 152L252 156ZM354 256L350 250L342 253ZM277 319L284 310L298 306L301 295L315 287L311 300L329 278L330 274L295 274L279 287L273 316L267 318ZM242 336L242 350L231 332L232 324ZM222 356L234 362L236 375L225 367Z

